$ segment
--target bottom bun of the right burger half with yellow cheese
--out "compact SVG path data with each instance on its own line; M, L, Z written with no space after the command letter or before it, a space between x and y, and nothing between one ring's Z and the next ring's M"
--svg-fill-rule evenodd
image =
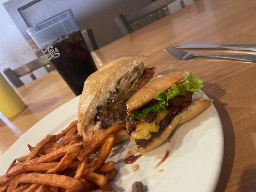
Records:
M211 102L211 99L195 98L191 105L184 108L183 111L181 111L178 115L174 117L170 125L166 127L165 130L158 137L154 138L146 147L136 146L134 150L139 153L145 153L147 151L157 148L168 139L168 137L175 130L177 125L195 118L202 111L208 108Z

